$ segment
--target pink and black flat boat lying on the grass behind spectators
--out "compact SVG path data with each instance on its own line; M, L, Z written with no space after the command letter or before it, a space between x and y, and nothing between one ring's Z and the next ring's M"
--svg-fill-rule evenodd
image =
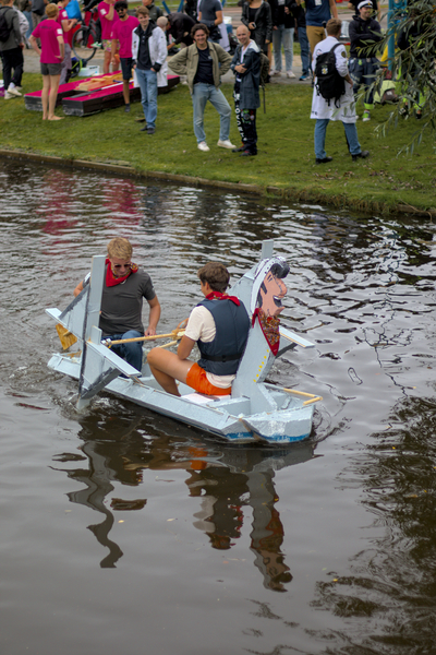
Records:
M113 78L111 83L108 78ZM119 75L94 75L93 78L78 78L73 82L61 84L58 91L56 106L62 105L63 112L66 116L87 116L96 111L114 109L124 105L122 80ZM104 80L105 85L98 87L98 80ZM179 75L168 75L168 86L159 86L158 93L168 93L177 86L180 81ZM90 84L93 88L85 90L84 85ZM24 106L31 111L43 111L43 91L34 91L24 96ZM141 99L140 87L130 83L130 102L134 103Z

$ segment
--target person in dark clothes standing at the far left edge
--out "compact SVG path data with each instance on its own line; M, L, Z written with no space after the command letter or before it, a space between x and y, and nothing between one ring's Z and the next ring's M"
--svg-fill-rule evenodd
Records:
M24 43L20 31L20 19L12 4L13 0L1 0L0 4L0 15L4 17L7 31L9 31L8 38L0 40L5 100L21 97L21 79L24 63Z

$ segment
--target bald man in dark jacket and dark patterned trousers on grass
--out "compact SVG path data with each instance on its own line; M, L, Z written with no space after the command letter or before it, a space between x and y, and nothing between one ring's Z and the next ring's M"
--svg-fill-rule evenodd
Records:
M233 153L249 157L257 155L256 109L261 106L261 50L250 38L250 29L245 25L238 27L237 37L241 45L234 52L230 68L237 78L233 98L242 146L235 147Z

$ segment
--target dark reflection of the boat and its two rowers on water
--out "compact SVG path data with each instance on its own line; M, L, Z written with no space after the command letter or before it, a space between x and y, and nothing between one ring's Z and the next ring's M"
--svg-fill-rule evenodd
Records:
M101 568L114 567L123 552L109 538L114 524L113 512L107 498L113 491L112 483L129 486L143 484L142 472L186 471L189 496L201 497L201 511L195 512L193 525L204 532L210 546L230 550L240 537L244 522L243 508L252 509L251 550L254 563L261 571L264 585L275 591L286 591L284 584L292 580L284 563L281 546L284 531L280 514L275 508L279 500L275 489L275 472L306 462L313 456L311 442L282 449L221 445L207 438L195 438L192 430L177 428L161 417L154 419L153 440L144 439L143 417L132 421L99 413L80 419L83 440L81 451L86 467L65 469L68 476L84 488L68 493L71 502L92 508L104 515L104 521L88 526L109 555ZM74 461L74 454L55 455L55 461ZM58 468L59 469L59 468ZM143 490L141 491L143 493ZM113 510L142 510L146 499L112 499Z

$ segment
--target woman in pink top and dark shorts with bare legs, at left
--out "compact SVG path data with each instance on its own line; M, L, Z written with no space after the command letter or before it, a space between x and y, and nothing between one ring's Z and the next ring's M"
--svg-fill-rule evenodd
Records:
M61 76L62 60L64 57L62 27L57 22L59 9L56 4L47 4L47 20L41 21L31 35L34 50L40 55L43 73L43 120L61 120L55 116L56 100L58 98L59 80ZM38 48L37 38L41 48Z

